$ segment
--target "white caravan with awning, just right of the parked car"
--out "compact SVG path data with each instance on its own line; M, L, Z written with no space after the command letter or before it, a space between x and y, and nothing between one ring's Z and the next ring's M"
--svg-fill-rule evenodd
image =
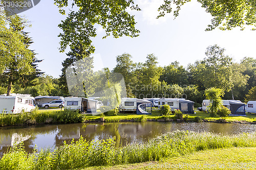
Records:
M96 104L98 101L87 98L65 98L64 108L79 110L80 112L96 113Z

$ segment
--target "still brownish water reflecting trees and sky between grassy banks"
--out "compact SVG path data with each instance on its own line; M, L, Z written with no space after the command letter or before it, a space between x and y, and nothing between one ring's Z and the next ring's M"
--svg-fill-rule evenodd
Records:
M71 142L83 136L87 140L100 140L116 136L116 145L133 142L145 142L149 138L175 130L195 132L213 132L222 134L238 134L255 132L256 125L250 124L217 124L217 123L85 123L65 125L37 125L26 127L9 127L0 130L0 156L15 143L24 143L29 153L37 149L51 148L62 145L66 140Z

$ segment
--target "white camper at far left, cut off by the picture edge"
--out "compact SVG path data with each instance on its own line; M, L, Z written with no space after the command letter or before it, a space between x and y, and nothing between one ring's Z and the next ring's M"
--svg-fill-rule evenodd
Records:
M0 96L0 113L30 112L35 109L35 99L30 94L11 94Z

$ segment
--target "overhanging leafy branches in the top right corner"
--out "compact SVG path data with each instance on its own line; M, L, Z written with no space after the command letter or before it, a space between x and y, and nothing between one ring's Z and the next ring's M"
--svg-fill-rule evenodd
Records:
M191 0L164 0L164 4L158 9L159 17L166 13L174 12L174 16L179 15L181 6ZM251 30L256 27L256 1L255 0L197 0L202 4L202 8L213 17L211 25L206 31L219 28L221 30L231 30L240 27L244 30L245 26L251 26ZM175 10L173 8L176 7Z

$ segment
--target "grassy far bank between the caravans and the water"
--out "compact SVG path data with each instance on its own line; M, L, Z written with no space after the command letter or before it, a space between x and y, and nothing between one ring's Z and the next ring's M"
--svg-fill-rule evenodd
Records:
M245 116L210 117L208 113L197 111L196 114L183 115L186 122L219 122L219 123L256 123L256 114L246 113ZM137 115L133 113L119 113L113 116L113 110L108 115L79 114L73 110L39 109L31 113L0 114L0 126L34 125L34 124L66 124L86 122L146 122L146 121L175 121L174 114L160 115L153 110L151 115Z

